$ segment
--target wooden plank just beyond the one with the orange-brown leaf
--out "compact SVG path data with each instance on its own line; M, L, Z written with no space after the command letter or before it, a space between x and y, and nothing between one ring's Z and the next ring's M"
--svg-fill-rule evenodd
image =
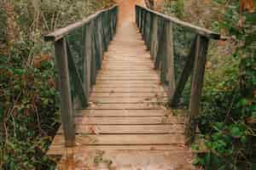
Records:
M174 116L75 116L75 122L86 125L157 125L184 123L182 117Z

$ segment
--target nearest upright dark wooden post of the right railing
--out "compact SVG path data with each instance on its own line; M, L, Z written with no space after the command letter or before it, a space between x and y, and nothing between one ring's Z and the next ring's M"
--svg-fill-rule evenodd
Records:
M195 65L192 77L192 87L189 99L189 118L186 122L185 134L187 144L195 141L196 117L200 113L201 91L203 87L205 64L207 60L207 48L209 39L199 36L195 47Z

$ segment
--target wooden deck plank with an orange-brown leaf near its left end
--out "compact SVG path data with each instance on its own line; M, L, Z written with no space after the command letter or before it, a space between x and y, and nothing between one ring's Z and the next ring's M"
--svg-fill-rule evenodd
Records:
M62 134L62 128L58 134ZM76 133L88 134L177 134L184 133L183 124L169 125L77 125Z

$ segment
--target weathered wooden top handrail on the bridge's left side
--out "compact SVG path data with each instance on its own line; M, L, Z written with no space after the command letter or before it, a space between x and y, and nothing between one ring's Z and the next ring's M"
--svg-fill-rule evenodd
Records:
M73 31L74 29L79 28L80 26L84 26L85 24L89 23L91 20L95 20L99 14L102 14L104 12L107 12L117 7L118 5L113 5L110 8L102 9L100 11L97 11L95 14L90 14L84 20L80 20L79 22L73 23L72 25L57 29L56 31L51 32L48 35L44 36L44 41L55 42L61 39L61 37L64 37L65 35L67 35L68 32Z

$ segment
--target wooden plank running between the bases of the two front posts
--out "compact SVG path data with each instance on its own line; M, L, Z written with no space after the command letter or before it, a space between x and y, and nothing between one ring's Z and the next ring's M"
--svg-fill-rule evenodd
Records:
M54 144L63 144L62 135L56 135ZM77 145L123 145L123 144L185 144L183 134L101 134L101 135L76 135Z

